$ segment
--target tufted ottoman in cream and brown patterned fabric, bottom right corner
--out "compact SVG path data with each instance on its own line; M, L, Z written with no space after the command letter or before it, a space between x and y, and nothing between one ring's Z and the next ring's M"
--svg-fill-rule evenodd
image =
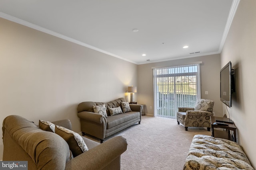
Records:
M254 170L254 168L237 143L207 135L195 135L183 170Z

